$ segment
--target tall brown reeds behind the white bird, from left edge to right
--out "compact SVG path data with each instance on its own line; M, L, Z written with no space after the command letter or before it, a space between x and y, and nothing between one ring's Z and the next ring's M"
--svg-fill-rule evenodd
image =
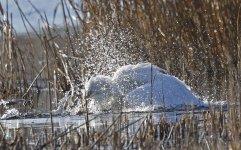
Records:
M38 29L15 1L25 36L15 32L12 14L1 6L2 98L22 97L47 60L38 79L48 79L47 68L54 68L49 80L55 72L63 92L83 87L92 75L149 61L185 80L201 98L240 102L238 0L59 2L54 13L63 12L60 28L32 4Z

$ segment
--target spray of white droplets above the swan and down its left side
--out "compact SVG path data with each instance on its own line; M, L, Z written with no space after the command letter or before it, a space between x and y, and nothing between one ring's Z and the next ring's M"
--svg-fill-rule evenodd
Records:
M85 83L97 74L112 75L116 68L147 61L147 51L141 38L131 28L100 25L88 33L73 37L74 52L61 50L61 56L71 69L72 104L81 105ZM77 59L78 58L78 59ZM74 100L73 100L74 99ZM69 100L68 100L69 101Z

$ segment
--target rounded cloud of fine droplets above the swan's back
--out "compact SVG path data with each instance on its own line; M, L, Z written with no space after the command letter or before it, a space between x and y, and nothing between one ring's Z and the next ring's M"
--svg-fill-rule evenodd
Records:
M111 75L120 66L147 60L144 46L136 41L140 38L131 29L118 25L100 26L77 41L76 53L84 55L88 77Z

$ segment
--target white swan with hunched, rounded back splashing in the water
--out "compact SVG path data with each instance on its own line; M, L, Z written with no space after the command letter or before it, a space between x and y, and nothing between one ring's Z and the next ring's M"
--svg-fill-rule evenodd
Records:
M204 105L182 81L150 63L123 66L112 78L92 77L85 88L87 97L93 99L96 106L102 109L109 106L112 111L122 108L146 111L158 107L185 109L185 105Z

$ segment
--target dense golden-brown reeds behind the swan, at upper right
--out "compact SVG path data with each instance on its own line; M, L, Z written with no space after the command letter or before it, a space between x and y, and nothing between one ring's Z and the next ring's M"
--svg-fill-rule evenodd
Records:
M88 19L83 32L101 33L112 25L131 28L139 37L132 41L135 46L144 43L146 60L185 80L203 97L226 100L229 85L239 86L238 0L83 1L83 12ZM234 89L232 95L239 101L237 93Z

